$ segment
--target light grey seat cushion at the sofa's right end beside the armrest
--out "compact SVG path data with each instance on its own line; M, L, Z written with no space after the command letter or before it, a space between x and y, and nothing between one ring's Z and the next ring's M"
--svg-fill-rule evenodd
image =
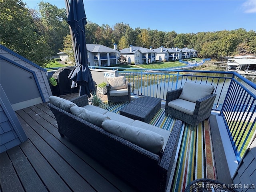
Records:
M168 141L168 139L169 139L169 137L170 137L170 134L171 134L170 131L167 131L167 130L158 128L158 127L156 127L156 126L147 124L147 123L142 122L142 121L139 121L139 120L135 120L135 121L131 124L131 126L143 128L143 129L146 129L146 130L149 130L149 131L152 131L152 132L155 132L155 133L157 133L157 134L162 135L162 136L164 137L163 150L165 149L165 146L166 146L167 141Z

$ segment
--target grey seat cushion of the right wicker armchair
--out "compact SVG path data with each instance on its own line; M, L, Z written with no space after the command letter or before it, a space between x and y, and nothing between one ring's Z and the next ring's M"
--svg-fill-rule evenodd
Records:
M175 99L168 103L168 106L178 111L184 112L189 115L193 115L196 103L183 99Z

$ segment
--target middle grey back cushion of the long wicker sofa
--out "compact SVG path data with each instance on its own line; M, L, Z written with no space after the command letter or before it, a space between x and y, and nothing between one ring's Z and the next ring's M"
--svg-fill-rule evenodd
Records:
M72 106L70 108L70 111L73 115L75 115L83 120L86 120L98 127L101 127L101 124L105 119L110 119L106 115L91 112L89 110L86 110L85 108L78 107L78 106Z

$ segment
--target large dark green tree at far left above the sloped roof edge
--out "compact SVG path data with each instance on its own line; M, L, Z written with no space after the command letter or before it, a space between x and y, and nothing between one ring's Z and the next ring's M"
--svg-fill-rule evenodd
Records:
M0 43L44 67L50 49L21 0L0 0Z

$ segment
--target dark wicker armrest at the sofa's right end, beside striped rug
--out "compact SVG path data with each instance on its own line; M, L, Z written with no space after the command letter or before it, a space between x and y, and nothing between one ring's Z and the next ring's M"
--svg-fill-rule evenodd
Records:
M160 161L159 191L166 191L180 139L182 121L176 120Z

